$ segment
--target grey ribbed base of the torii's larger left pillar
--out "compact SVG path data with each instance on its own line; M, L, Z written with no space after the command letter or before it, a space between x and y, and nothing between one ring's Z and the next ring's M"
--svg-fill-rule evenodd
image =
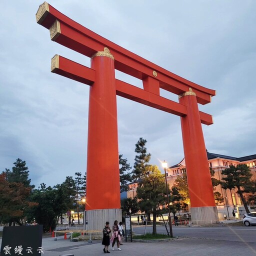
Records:
M122 221L121 209L99 209L86 210L85 219L88 221L88 230L101 230L105 226L105 222L109 222L112 229L114 220Z

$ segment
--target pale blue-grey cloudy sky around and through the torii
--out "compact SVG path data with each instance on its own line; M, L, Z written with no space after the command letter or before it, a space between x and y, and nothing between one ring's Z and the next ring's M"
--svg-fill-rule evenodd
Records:
M25 160L35 186L86 171L89 86L50 72L54 54L89 58L50 40L36 23L40 0L1 1L0 171ZM210 152L255 154L255 0L48 0L73 20L190 81L216 90L199 105ZM116 71L116 78L142 82ZM160 92L178 101L177 95ZM119 153L134 163L139 137L151 164L183 158L180 118L117 96Z

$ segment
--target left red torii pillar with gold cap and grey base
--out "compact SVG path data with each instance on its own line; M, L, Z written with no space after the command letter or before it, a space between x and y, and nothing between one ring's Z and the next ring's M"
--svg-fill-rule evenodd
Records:
M108 48L91 57L95 80L90 86L86 220L88 229L121 221L114 58Z

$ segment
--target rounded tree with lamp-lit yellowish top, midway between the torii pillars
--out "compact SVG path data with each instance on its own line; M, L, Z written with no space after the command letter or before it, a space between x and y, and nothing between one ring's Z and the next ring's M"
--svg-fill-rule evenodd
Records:
M145 166L145 176L137 187L137 198L141 211L153 214L152 234L156 234L156 216L160 214L158 205L164 202L166 187L164 176L156 165Z

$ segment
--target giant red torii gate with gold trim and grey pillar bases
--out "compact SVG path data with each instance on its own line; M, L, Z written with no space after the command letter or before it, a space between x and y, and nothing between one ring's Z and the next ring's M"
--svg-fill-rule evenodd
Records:
M201 123L212 116L198 110L215 90L188 81L120 47L65 16L47 2L36 21L50 31L51 40L91 58L91 67L59 55L51 59L51 72L90 85L86 219L89 229L106 220L121 219L117 142L116 95L179 115L181 119L192 220L218 221ZM114 69L139 78L143 89L115 79ZM159 88L178 95L179 103L159 95Z

